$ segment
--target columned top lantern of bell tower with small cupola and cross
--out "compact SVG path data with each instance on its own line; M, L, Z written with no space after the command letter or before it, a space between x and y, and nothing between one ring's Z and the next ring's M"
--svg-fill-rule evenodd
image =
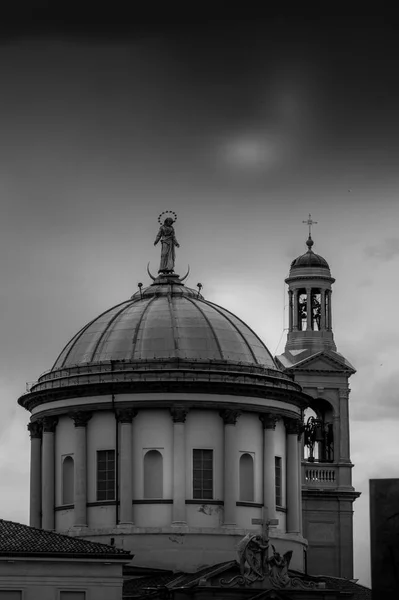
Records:
M332 289L327 261L313 251L311 215L307 221L309 237L305 254L292 261L288 284L289 324L287 350L336 350L332 331Z

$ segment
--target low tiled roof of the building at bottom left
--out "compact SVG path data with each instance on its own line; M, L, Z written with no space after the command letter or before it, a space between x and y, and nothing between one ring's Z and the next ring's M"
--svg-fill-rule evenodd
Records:
M130 552L78 537L36 529L0 519L0 556L54 556L69 558L118 558L129 560Z

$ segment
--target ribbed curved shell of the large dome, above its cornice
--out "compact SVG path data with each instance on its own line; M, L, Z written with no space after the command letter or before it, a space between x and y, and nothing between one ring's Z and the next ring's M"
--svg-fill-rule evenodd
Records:
M264 343L241 319L181 283L155 282L83 327L51 371L154 359L228 361L278 370Z

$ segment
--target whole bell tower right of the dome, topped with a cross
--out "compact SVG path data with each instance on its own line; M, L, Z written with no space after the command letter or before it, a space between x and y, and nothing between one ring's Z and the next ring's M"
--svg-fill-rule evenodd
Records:
M278 365L312 400L304 415L302 525L311 575L353 578L353 502L349 443L349 378L356 371L339 352L332 329L332 284L327 261L313 251L292 261L289 324Z

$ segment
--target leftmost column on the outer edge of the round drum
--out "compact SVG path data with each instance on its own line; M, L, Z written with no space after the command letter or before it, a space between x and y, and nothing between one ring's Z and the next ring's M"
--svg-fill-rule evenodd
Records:
M38 421L28 423L30 433L30 509L29 525L42 526L42 425Z

